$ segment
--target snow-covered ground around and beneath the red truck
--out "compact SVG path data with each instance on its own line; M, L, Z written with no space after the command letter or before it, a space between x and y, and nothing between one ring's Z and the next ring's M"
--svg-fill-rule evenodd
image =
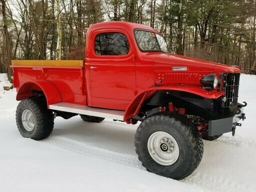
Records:
M57 117L49 138L21 137L15 93L0 87L0 191L256 191L255 75L241 75L239 100L248 106L235 137L204 141L200 165L180 181L141 166L133 146L137 125Z

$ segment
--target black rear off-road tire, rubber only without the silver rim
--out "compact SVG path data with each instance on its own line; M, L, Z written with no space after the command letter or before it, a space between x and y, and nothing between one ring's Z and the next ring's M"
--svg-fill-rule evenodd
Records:
M24 110L30 110L35 119L33 130L27 131L21 121L21 115ZM19 102L16 109L16 124L20 134L23 137L40 140L50 135L54 125L54 115L47 109L46 101L38 98L27 98Z

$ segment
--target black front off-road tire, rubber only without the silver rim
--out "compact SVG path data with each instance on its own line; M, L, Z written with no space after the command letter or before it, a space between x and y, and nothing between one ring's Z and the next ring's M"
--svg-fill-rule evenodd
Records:
M169 133L178 144L179 156L171 165L157 163L148 152L148 138L156 131ZM138 159L148 171L177 180L191 174L203 154L201 135L196 127L183 115L172 112L159 112L141 122L135 134L135 148Z

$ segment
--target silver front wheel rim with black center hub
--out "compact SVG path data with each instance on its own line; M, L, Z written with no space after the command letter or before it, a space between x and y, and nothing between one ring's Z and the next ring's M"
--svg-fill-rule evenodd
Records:
M164 131L156 131L149 136L147 150L155 162L165 166L176 162L179 155L177 141Z

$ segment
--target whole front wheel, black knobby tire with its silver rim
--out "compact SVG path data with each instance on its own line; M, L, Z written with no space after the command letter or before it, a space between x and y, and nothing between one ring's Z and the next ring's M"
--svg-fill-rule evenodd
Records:
M203 154L196 127L184 116L171 112L160 112L141 122L135 147L148 171L174 179L191 174Z

